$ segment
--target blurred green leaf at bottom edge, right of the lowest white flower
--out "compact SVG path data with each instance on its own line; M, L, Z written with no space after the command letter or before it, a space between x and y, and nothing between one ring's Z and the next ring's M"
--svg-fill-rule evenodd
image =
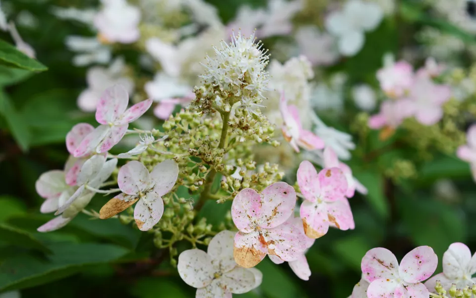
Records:
M256 266L263 273L261 290L269 298L305 297L281 266L272 263L269 258L266 258Z

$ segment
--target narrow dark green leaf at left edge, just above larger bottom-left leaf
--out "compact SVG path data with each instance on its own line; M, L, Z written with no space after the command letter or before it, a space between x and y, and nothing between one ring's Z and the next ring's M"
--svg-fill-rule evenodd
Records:
M0 223L0 243L51 252L42 242L27 231Z

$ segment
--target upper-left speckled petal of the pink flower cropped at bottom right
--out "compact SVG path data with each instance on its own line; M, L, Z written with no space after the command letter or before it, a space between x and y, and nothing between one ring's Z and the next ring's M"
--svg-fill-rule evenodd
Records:
M363 278L371 283L378 279L396 279L398 275L398 261L395 255L383 247L372 248L362 258Z

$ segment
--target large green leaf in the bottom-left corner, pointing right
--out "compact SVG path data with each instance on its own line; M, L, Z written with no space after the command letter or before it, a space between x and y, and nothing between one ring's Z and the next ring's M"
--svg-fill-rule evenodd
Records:
M17 255L0 265L0 291L30 288L70 276L83 266L110 263L127 250L116 245L95 243L57 243L47 259Z

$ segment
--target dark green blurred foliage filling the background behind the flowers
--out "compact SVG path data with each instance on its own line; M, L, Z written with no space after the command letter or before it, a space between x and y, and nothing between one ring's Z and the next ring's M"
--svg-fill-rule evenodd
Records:
M156 268L155 264L167 256L154 250L151 235L118 220L99 223L79 215L59 231L36 231L52 218L39 212L43 199L36 194L36 179L49 169L62 168L67 158L64 138L74 124L94 122L93 115L81 113L76 107L76 98L85 86L86 69L71 65L73 54L64 46L67 35L86 35L88 29L57 19L48 7L87 7L89 2L94 3L10 1L11 19L24 11L37 18L36 26L20 28L23 39L33 46L41 63L12 49L10 37L1 34L0 293L20 290L22 297L52 298L193 297L195 289L180 280L176 269L165 263ZM209 2L216 5L226 22L243 2L260 6L266 1ZM325 72L345 71L351 82L377 86L375 72L382 66L381 57L387 52L398 57L400 44L414 42L413 30L422 25L465 42L476 41L474 36L444 20L426 15L419 1L401 0L398 7L395 18L386 19L377 30L367 34L365 47L358 55ZM264 42L266 45L273 40ZM137 58L127 49L122 54L127 61ZM351 119L323 118L328 125L351 132ZM361 150L358 155L365 156L365 162L354 157L349 165L369 190L367 196L357 194L351 200L356 229L331 229L316 241L307 253L312 271L308 282L299 280L287 265L277 266L266 259L258 265L263 272L258 291L236 297L348 297L360 279L362 256L377 246L391 249L397 258L417 245L429 245L441 260L448 245L457 241L467 243L474 251L476 189L467 163L455 156L435 156L434 160L418 164L418 175L397 187L379 169L381 165L391 166L395 157L412 155L414 151L385 149L392 141L382 143L378 132L371 132L364 140L358 140L358 134L355 136L357 150ZM444 196L437 192L435 183L441 179L452 179L457 193ZM96 196L90 206L99 210L108 198ZM227 210L227 204L210 205L201 212L213 223L214 217L219 222ZM436 272L441 270L439 266Z

